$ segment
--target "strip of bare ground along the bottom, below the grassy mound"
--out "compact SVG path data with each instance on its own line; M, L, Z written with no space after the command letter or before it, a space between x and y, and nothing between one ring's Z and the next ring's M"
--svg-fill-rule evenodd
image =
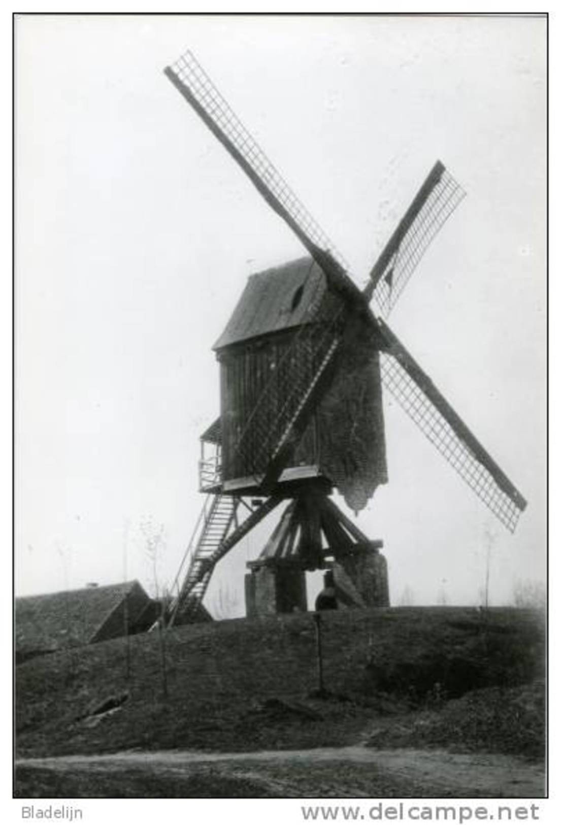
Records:
M87 786L90 789L90 794L79 794L82 796L544 795L544 770L540 763L501 754L408 748L374 750L362 745L255 753L120 752L21 759L16 768L21 775L21 793L17 795L32 790L34 776L41 784L50 785L54 796L78 795L66 791L80 785L80 780L84 790ZM131 777L138 780L132 787ZM151 794L149 789L154 783L158 793Z

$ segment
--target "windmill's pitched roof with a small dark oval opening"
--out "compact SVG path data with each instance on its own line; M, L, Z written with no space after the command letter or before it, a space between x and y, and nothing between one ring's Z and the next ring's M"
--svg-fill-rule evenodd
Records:
M310 323L314 306L319 307L314 321L321 321L328 318L335 302L337 298L328 293L323 271L311 257L257 272L248 278L242 296L213 348L219 350L269 332Z

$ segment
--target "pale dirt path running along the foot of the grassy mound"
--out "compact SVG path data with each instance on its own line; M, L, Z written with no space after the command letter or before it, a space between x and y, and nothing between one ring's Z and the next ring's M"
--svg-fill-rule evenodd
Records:
M259 778L272 796L375 795L384 785L411 789L406 796L541 797L544 767L498 754L459 754L406 748L375 750L361 745L307 751L203 753L190 751L118 752L101 755L26 758L16 766L57 771L149 771L190 775L210 766L229 775ZM359 770L360 769L360 770ZM392 785L393 784L393 785Z

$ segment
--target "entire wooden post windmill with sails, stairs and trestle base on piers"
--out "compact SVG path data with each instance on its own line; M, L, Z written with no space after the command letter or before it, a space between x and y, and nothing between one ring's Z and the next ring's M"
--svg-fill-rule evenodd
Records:
M331 497L337 488L357 512L387 481L382 384L508 530L526 507L385 320L464 191L438 161L360 290L193 54L164 73L308 253L252 276L214 346L221 409L201 436L205 504L167 618L194 620L219 560L281 505L249 565L248 613L305 610L304 571L329 567L349 606L388 604L382 542Z

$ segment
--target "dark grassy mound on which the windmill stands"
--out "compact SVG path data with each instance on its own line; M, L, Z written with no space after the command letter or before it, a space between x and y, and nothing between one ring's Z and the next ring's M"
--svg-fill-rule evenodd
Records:
M540 678L544 625L542 616L515 609L333 611L323 616L323 697L314 692L311 615L172 629L167 695L157 635L129 643L129 676L125 639L17 667L22 756L351 744L388 714Z

